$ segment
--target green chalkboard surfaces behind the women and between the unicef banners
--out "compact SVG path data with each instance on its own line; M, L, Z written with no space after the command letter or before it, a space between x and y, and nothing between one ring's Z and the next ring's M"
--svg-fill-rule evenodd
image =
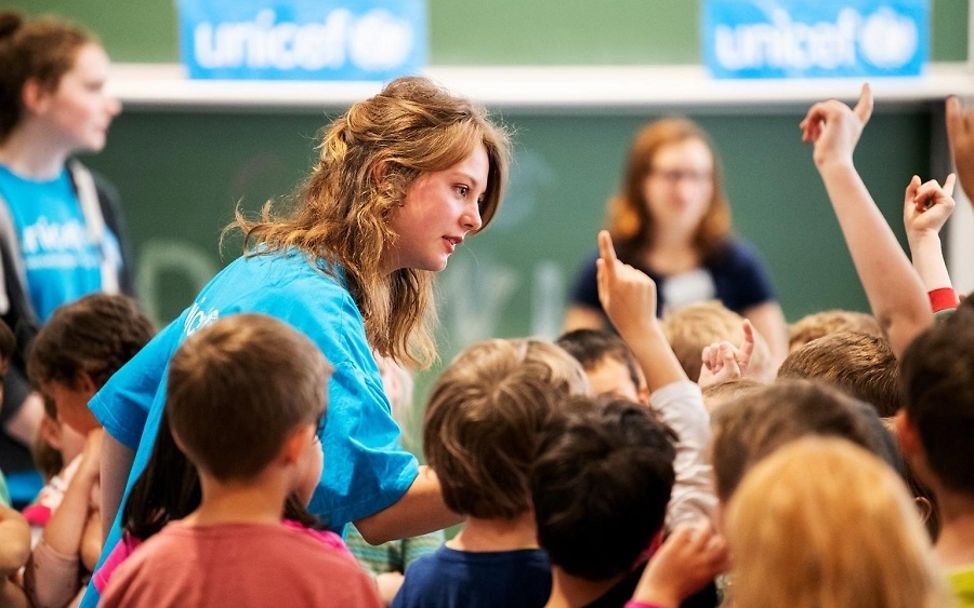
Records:
M105 0L15 0L56 11L99 32L118 62L176 57L174 2L122 9ZM616 0L430 0L430 56L438 65L693 64L696 2ZM932 56L967 56L968 3L934 0ZM661 86L666 86L661 84ZM138 255L142 300L159 321L175 317L198 288L238 254L218 241L234 206L254 212L280 199L311 166L321 112L135 109L114 124L107 149L86 159L118 186ZM867 310L811 150L799 138L806 107L701 109L724 160L739 235L757 246L791 320L825 308ZM573 113L522 109L502 117L515 163L498 219L463 245L441 275L441 355L470 342L560 330L564 295L595 248L634 131L651 110ZM887 218L900 227L903 188L930 175L942 118L924 103L879 100L857 164ZM422 395L432 372L420 378Z

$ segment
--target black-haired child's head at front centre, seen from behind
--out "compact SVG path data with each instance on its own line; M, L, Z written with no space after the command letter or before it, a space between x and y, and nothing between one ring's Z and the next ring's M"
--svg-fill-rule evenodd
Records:
M545 427L531 472L538 543L553 566L603 581L626 572L663 527L673 433L622 399L574 399Z

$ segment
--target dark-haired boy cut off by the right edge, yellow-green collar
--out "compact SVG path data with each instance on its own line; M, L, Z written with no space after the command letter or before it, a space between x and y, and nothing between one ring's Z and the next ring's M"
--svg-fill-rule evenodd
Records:
M974 307L921 334L901 365L900 447L940 506L935 550L961 607L974 606Z

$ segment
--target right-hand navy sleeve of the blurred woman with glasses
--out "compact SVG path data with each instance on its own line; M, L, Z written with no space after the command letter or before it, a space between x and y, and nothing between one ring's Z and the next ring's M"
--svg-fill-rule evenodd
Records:
M741 241L730 241L709 270L724 306L743 313L752 306L775 300L771 278L757 251Z

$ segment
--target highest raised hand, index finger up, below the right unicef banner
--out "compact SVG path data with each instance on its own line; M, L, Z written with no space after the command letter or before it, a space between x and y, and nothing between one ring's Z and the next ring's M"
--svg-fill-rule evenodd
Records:
M852 163L852 153L862 130L873 113L873 94L869 83L862 85L854 108L837 99L820 101L809 108L798 127L802 141L814 145L815 164Z

